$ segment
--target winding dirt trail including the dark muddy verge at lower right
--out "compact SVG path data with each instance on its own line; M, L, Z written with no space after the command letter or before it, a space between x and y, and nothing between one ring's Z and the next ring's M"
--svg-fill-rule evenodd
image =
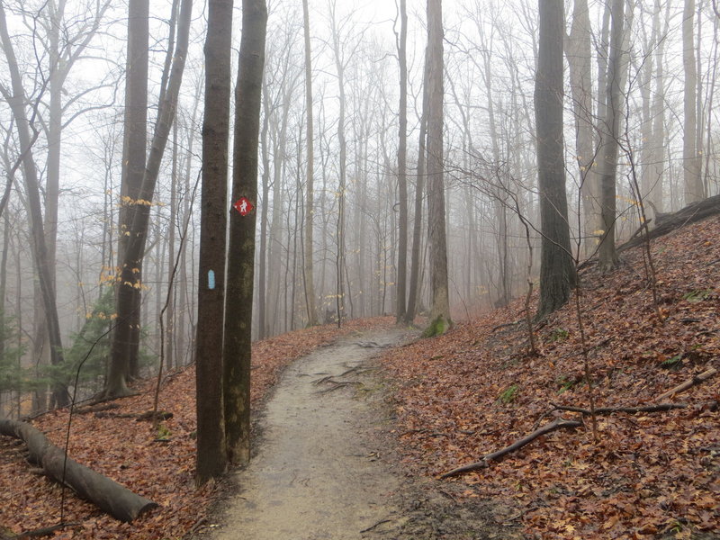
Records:
M518 512L463 500L462 484L410 476L373 359L405 330L345 338L285 370L259 424L257 455L218 504L211 540L518 540ZM218 525L220 524L220 525Z

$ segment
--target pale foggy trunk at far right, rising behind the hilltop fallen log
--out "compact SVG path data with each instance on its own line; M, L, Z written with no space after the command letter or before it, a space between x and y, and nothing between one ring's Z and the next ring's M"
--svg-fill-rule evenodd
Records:
M684 167L685 204L705 197L700 177L700 160L697 143L697 95L698 67L695 64L695 40L693 25L695 0L685 0L682 12L682 63L685 69L684 121L682 130L682 162Z

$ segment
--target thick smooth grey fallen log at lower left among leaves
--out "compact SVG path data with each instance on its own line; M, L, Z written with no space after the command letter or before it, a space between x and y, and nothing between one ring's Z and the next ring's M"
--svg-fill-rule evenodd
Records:
M0 435L23 440L28 447L31 463L40 465L53 480L65 483L115 519L130 522L158 506L152 500L140 497L119 483L66 457L65 452L50 443L48 437L26 422L0 419Z

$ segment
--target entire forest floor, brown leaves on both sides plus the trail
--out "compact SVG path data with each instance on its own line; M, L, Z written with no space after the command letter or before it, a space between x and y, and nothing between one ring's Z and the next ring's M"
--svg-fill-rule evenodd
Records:
M194 374L188 369L163 387L160 408L175 416L162 434L120 416L151 408L150 384L141 395L118 401L118 409L73 420L69 454L155 500L160 509L119 524L67 493L61 512L58 486L32 474L21 449L3 437L0 526L17 533L64 519L78 525L56 537L220 540L231 538L222 535L236 527L256 527L253 516L292 517L295 505L285 505L304 495L287 490L311 487L309 497L328 495L328 514L349 528L330 531L326 525L325 536L318 531L267 537L718 539L720 374L698 378L720 371L717 238L720 219L712 218L653 240L662 322L641 249L624 252L611 275L600 276L594 266L583 270L590 385L574 302L536 325L536 355L528 350L522 300L459 323L443 337L387 349L376 346L406 336L390 318L354 321L342 332L302 330L256 345L253 404L264 412L255 420L257 461L247 471L194 489ZM318 349L329 343L335 345ZM662 397L684 382L691 386ZM599 414L596 441L588 415L558 409L590 409L589 388L599 408L685 407ZM284 400L295 401L291 406ZM295 430L286 436L276 425L283 416ZM538 437L478 471L440 478L561 417L582 424ZM34 423L61 443L67 412ZM283 437L281 451L274 445ZM336 444L337 457L331 457ZM310 470L267 471L311 458L316 461L308 462ZM264 476L268 486L287 490L260 491L257 482ZM346 494L333 500L343 482ZM290 499L284 500L285 492ZM349 509L353 497L358 506ZM325 510L326 503L312 502L304 500L297 509ZM318 525L328 518L313 515Z

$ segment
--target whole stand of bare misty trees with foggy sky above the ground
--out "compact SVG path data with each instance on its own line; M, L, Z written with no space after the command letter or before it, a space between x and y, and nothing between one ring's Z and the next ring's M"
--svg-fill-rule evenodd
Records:
M251 339L542 317L718 192L714 2L407 4L0 1L0 412L194 362L204 480Z

